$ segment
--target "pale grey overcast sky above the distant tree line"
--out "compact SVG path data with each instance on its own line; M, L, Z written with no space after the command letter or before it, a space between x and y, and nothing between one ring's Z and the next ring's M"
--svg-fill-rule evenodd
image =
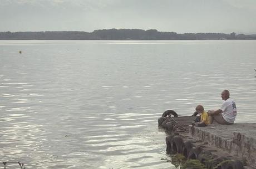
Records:
M256 33L256 0L0 0L0 31Z

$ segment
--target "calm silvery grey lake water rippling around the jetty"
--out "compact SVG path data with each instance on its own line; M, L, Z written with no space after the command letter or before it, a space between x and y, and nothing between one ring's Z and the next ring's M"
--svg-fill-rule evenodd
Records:
M158 117L168 109L191 115L197 104L218 109L229 89L236 122L255 122L255 47L255 40L0 40L0 162L175 168L161 160L170 157Z

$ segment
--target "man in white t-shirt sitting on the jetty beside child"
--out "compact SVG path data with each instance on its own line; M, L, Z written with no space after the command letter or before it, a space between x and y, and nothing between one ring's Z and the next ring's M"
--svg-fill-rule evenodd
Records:
M218 110L209 110L209 121L213 124L213 120L222 125L234 124L235 117L237 116L237 107L235 102L229 98L229 91L223 90L221 98L224 100L223 104Z

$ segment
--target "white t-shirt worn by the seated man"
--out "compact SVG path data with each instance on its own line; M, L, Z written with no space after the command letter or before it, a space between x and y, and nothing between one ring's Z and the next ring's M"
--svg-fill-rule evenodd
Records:
M226 120L229 123L234 123L235 116L237 116L237 107L235 106L235 102L232 99L227 99L223 102L223 104L220 107L220 110L222 110L222 116L224 120Z

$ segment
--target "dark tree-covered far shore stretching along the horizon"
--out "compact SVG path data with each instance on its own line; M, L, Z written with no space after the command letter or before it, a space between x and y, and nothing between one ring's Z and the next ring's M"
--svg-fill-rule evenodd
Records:
M156 29L102 29L93 32L46 31L46 32L0 32L0 40L224 40L256 39L256 35L234 32L224 33L175 33L158 32Z

